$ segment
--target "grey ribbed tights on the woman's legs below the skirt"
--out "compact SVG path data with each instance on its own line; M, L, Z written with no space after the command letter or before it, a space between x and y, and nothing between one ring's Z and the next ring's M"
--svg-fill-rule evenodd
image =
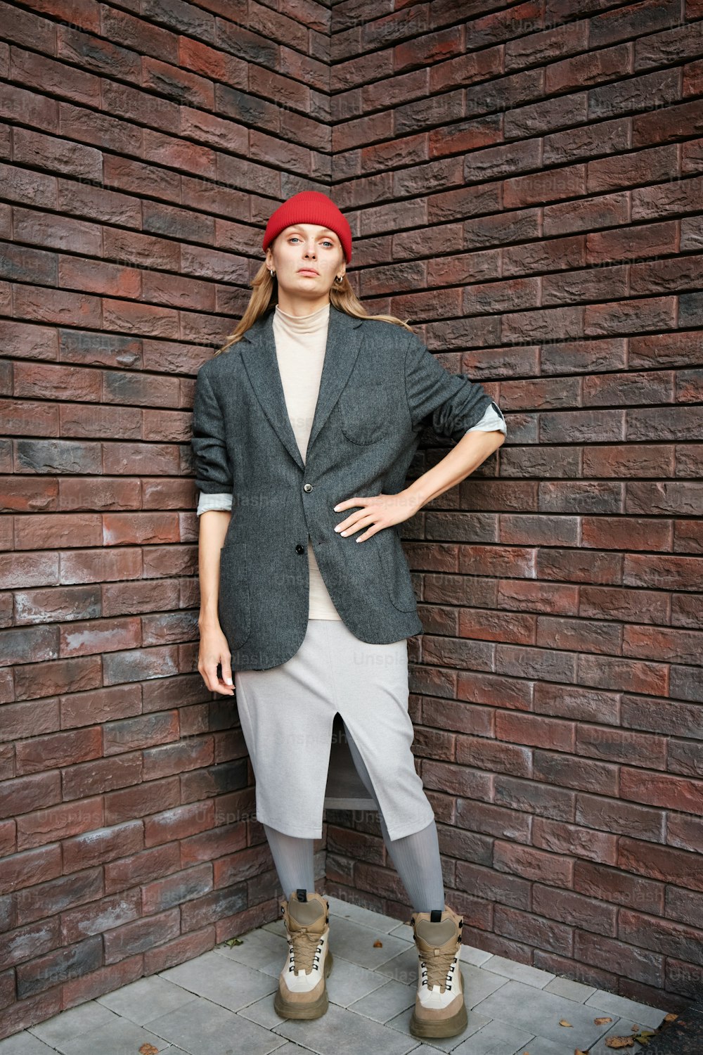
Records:
M406 888L414 912L429 913L432 908L440 908L444 912L445 889L435 821L431 821L422 831L416 831L403 839L391 840L389 838L369 772L344 721L343 725L356 771L376 804L386 848ZM314 841L300 839L297 836L288 836L268 824L263 824L262 827L269 840L271 856L278 872L284 897L290 897L291 893L298 887L314 890Z

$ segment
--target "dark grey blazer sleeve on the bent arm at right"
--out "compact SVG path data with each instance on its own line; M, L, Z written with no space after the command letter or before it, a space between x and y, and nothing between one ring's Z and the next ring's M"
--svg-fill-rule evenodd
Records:
M489 407L501 413L483 385L446 370L415 333L406 351L405 384L413 428L431 424L438 436L456 442Z

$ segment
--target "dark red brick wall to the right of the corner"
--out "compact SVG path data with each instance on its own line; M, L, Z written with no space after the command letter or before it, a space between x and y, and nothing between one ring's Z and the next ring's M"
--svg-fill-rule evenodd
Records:
M481 948L677 1008L703 974L703 4L395 6L332 22L359 293L509 429L404 533L447 901ZM353 827L328 878L402 916Z

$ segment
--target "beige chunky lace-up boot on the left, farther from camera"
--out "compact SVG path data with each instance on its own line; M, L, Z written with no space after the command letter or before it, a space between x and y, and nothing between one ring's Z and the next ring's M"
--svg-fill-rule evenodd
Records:
M325 981L332 970L329 909L329 901L304 887L280 902L289 956L273 1006L281 1018L320 1018L329 1006Z

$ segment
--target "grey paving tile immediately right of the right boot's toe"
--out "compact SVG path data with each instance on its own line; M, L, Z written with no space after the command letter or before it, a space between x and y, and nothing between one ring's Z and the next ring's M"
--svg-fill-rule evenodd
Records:
M594 1004L587 1006L578 1003L555 993L545 993L544 990L514 980L507 981L502 989L482 1000L475 1010L515 1029L526 1030L530 1036L544 1037L559 1044L570 1044L571 1050L581 1048L582 1051L587 1051L608 1029L607 1025L595 1025L593 1022L593 1018L607 1015L607 1011ZM569 1021L572 1029L560 1025L561 1018ZM567 1031L568 1041L565 1037Z

